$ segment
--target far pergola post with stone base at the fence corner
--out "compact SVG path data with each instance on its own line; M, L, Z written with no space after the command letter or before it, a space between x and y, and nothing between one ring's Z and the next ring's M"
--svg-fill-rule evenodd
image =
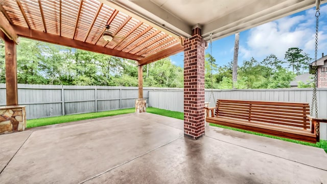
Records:
M135 111L146 112L147 99L143 98L143 65L137 66L138 72L138 99L135 99Z

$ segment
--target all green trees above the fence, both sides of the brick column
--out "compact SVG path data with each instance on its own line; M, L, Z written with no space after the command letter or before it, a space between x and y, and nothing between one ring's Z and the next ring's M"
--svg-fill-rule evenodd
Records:
M299 48L290 48L286 61L275 55L258 62L254 58L238 66L237 89L290 87L294 74L283 65L294 67L296 74L307 70L311 58ZM183 68L170 58L143 67L144 86L183 87ZM231 89L232 61L218 66L205 55L205 88ZM18 83L56 85L137 86L135 61L82 51L22 38L17 46ZM4 41L0 40L0 82L5 83ZM299 87L310 87L299 83Z

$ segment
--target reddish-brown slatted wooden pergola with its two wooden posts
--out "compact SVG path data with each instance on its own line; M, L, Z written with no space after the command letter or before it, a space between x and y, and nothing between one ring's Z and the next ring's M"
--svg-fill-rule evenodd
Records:
M142 66L183 51L180 39L96 0L1 1L6 41L7 105L17 105L15 44L18 36L137 61ZM103 39L109 25L113 40ZM10 54L11 53L11 54ZM142 75L139 75L142 89ZM139 98L143 98L140 90Z

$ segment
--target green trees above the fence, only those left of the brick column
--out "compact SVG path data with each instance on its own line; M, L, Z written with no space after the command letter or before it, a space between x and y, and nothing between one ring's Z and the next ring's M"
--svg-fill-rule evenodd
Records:
M4 41L0 40L0 82L5 83ZM183 70L169 58L150 64L145 86L183 87ZM145 70L145 67L144 67ZM145 71L144 71L145 73ZM18 83L137 86L135 61L21 38Z

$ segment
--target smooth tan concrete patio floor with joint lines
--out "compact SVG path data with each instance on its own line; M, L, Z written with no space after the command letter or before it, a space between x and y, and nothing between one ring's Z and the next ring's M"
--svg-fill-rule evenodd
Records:
M150 113L0 135L0 183L327 183L319 148Z

